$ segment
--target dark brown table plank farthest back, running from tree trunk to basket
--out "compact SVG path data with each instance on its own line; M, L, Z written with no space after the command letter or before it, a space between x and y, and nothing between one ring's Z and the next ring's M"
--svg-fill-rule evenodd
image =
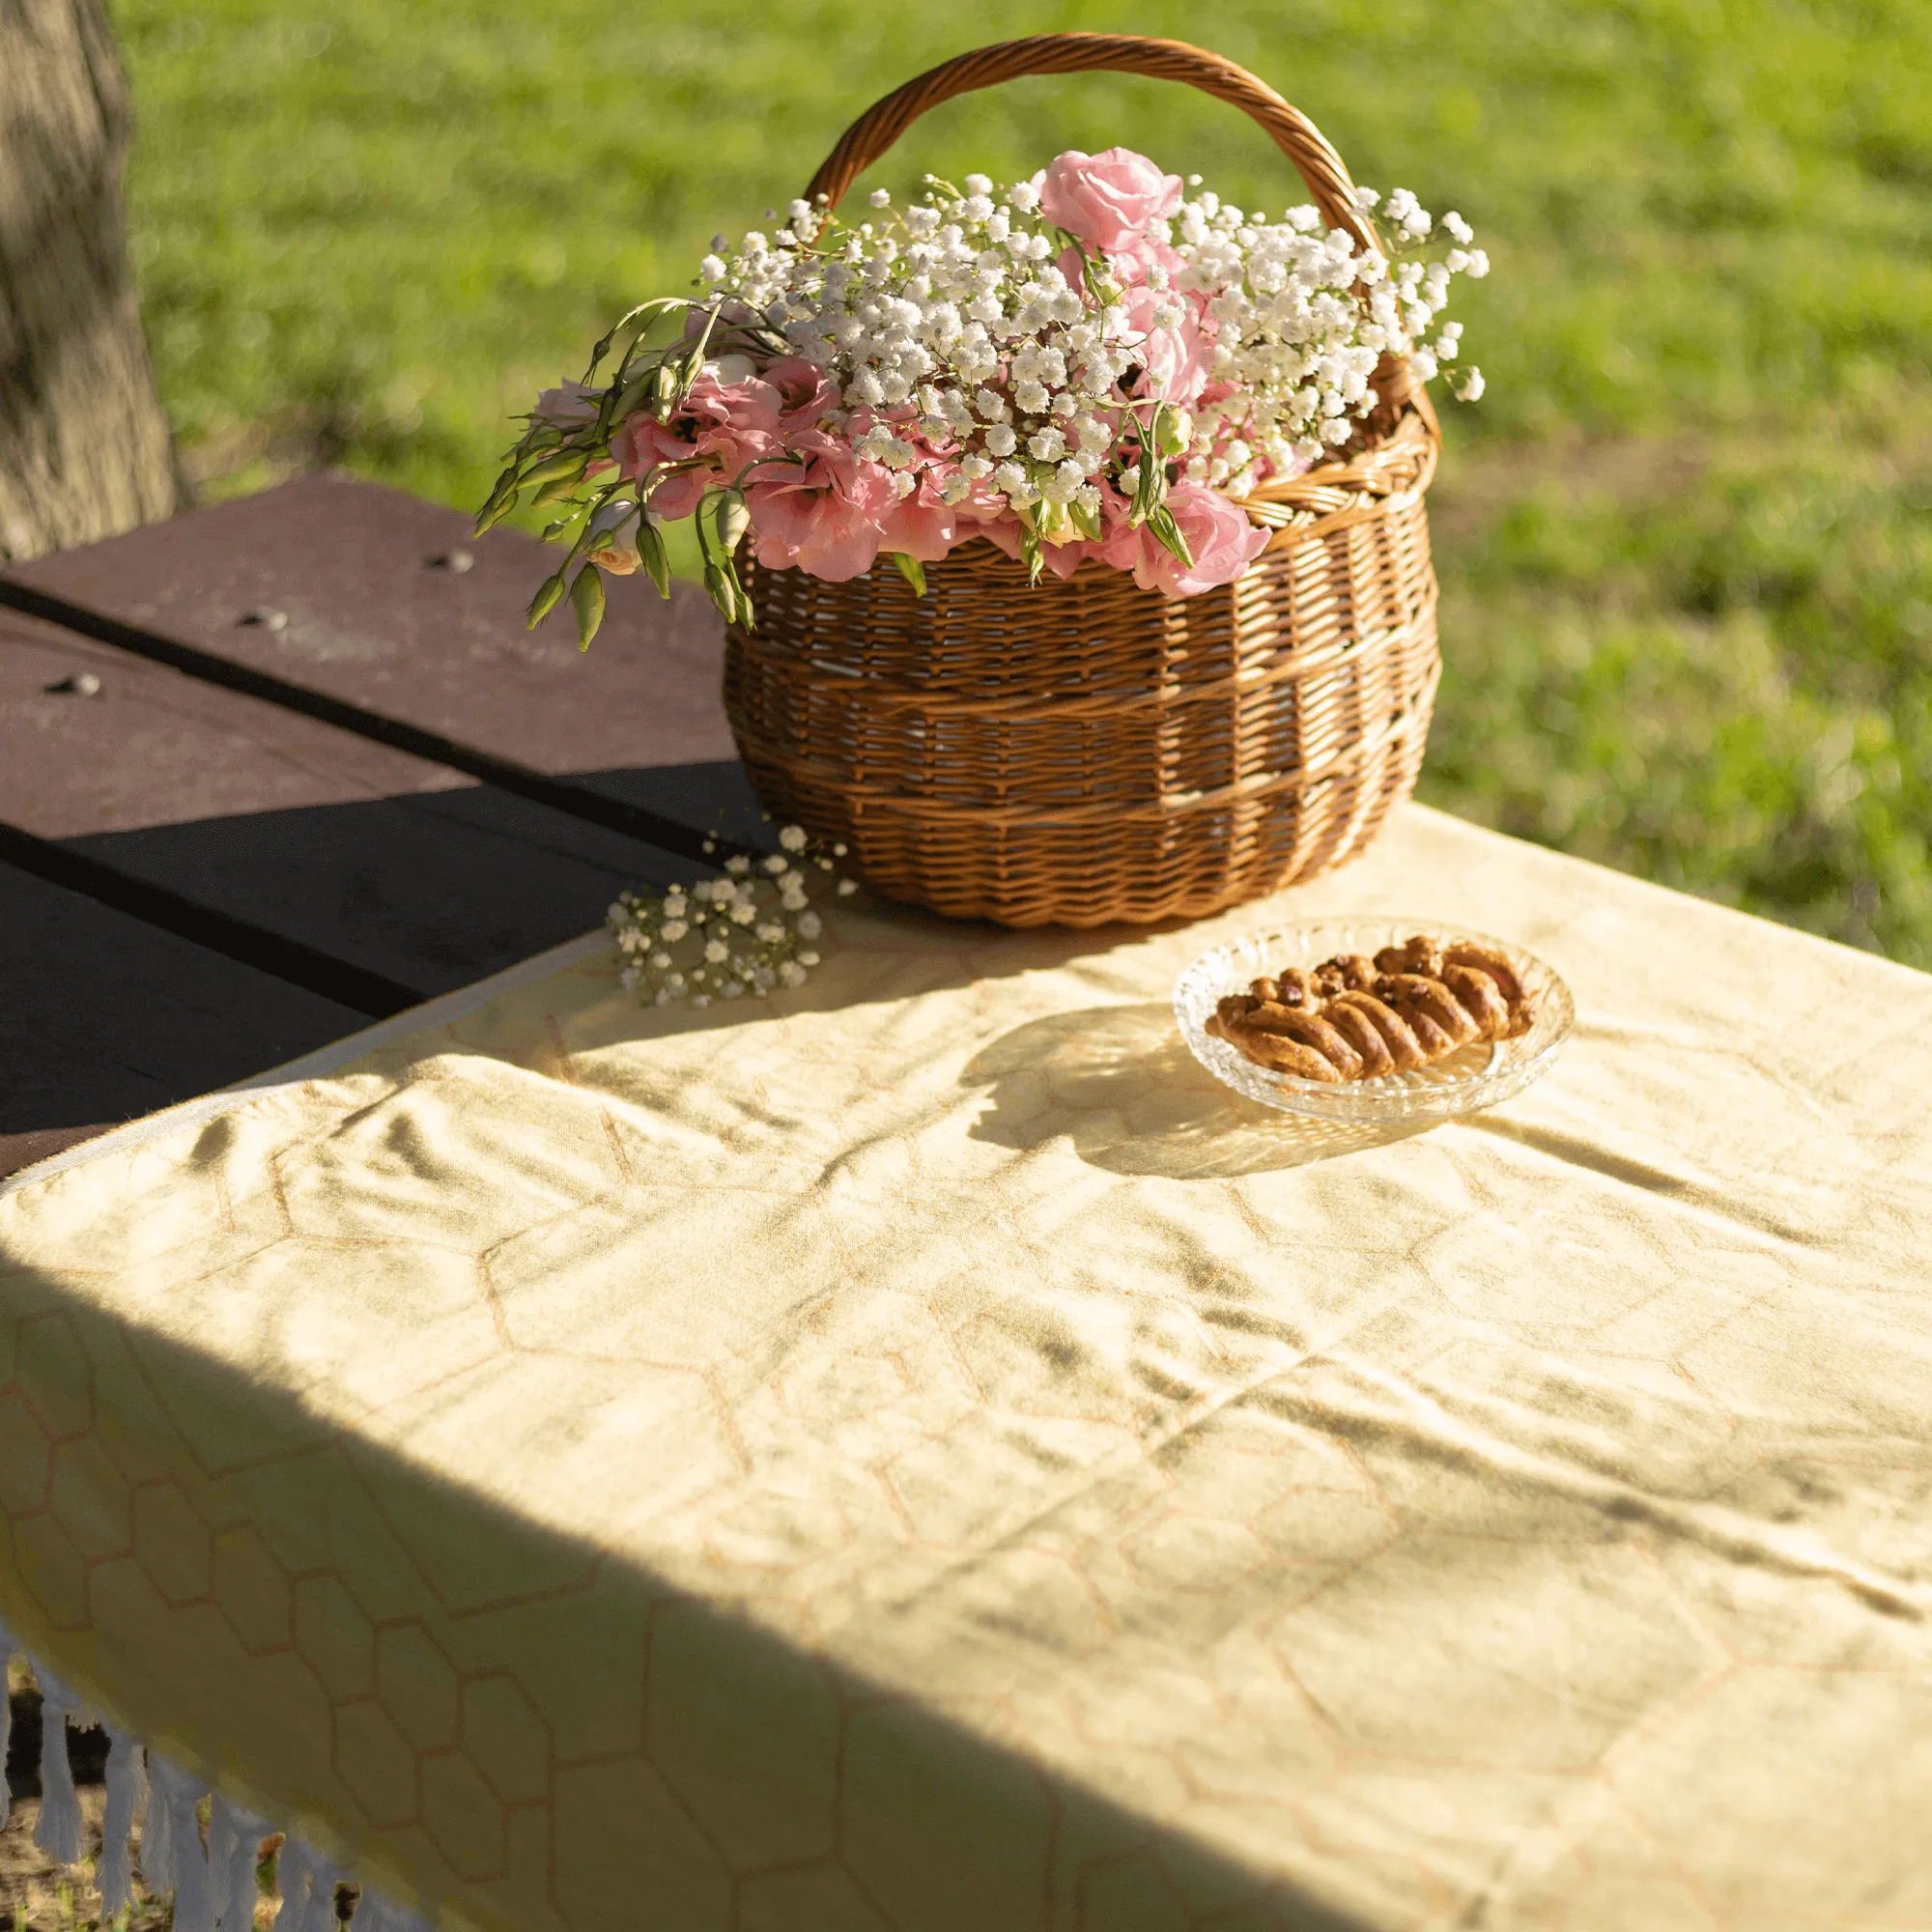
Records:
M616 804L755 837L719 697L717 612L692 585L663 603L641 578L614 582L605 628L580 653L568 614L524 628L553 560L520 531L477 539L458 512L319 475L15 566L6 583L54 599L39 609L68 622L122 626L108 632L122 645L172 643L272 680L284 701L309 694L359 713L361 728L427 734L388 742L498 784L518 788L516 773L479 759L549 781L593 815Z

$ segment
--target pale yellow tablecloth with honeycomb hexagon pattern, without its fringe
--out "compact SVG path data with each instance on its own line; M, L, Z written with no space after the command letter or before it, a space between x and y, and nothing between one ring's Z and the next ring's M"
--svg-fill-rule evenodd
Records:
M1281 918L1578 1028L1393 1144ZM0 1200L0 1613L483 1928L1932 1924L1932 980L1451 819L1186 931L597 952Z

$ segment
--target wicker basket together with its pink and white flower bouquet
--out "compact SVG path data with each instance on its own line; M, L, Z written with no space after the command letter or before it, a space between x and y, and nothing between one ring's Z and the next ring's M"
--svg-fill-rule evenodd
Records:
M1113 147L1005 187L929 176L904 205L879 189L866 218L840 216L910 118L902 97L985 85L989 64L1180 68L1264 118L1320 205L1267 218ZM873 885L1012 923L1208 910L1347 856L1412 782L1412 757L1395 784L1378 769L1364 806L1337 767L1352 844L1325 838L1293 810L1318 777L1308 746L1279 726L1289 713L1293 738L1320 696L1310 643L1370 649L1362 593L1383 560L1360 512L1393 527L1412 508L1381 572L1405 609L1376 628L1428 630L1422 678L1383 690L1350 665L1329 682L1356 715L1341 742L1316 736L1364 771L1389 746L1420 752L1434 415L1418 384L1459 355L1453 278L1486 267L1461 216L1356 189L1287 102L1215 56L1012 43L881 102L781 226L721 236L694 294L634 309L582 383L539 398L483 520L526 493L560 504L547 535L568 554L531 622L568 595L583 643L607 574L668 591L663 526L692 520L732 626L726 707L753 782L850 842ZM1482 377L1457 386L1476 396ZM1356 531L1347 638L1306 582L1335 549L1310 506ZM1235 719L1231 697L1250 699Z

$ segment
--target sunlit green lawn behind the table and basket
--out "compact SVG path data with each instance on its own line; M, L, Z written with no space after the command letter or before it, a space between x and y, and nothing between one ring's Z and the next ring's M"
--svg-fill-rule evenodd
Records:
M1200 41L1358 180L1459 207L1490 377L1432 498L1424 796L1932 966L1932 8L1922 0L118 0L162 390L209 495L315 462L471 504L539 383L968 41ZM879 168L1128 139L1279 209L1175 87L1026 81Z

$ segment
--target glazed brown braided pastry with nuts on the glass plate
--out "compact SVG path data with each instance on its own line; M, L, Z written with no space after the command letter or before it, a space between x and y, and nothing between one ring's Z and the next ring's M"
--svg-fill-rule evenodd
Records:
M1472 1039L1515 1039L1534 1016L1493 947L1416 933L1374 960L1343 952L1256 980L1215 1005L1208 1032L1269 1072L1335 1084L1428 1066Z

